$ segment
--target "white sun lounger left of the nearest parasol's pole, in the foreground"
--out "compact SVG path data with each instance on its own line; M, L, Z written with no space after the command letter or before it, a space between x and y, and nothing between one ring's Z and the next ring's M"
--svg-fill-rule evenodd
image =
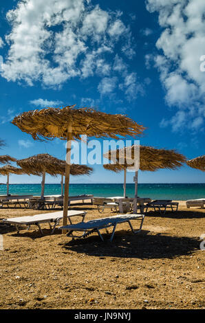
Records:
M67 211L67 218L69 219L69 223L72 224L72 220L71 220L72 216L82 216L83 221L84 221L85 214L86 214L86 212L84 212L84 211L68 210ZM43 231L41 229L40 223L49 223L50 229L51 229L51 234L53 234L54 230L56 228L56 225L59 224L61 219L63 219L63 211L46 213L46 214L36 214L33 216L20 216L17 218L3 219L2 221L3 221L3 223L14 224L17 228L17 232L19 232L20 225L27 225L28 230L31 225L37 225L37 227L39 227L41 234L43 235ZM53 227L52 227L51 223L54 223Z

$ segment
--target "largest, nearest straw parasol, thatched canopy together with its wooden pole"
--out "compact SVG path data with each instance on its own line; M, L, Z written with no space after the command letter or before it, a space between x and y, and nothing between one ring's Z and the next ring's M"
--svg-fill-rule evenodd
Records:
M89 108L77 109L75 106L24 112L12 123L32 135L34 140L54 137L67 140L63 225L67 225L71 140L80 139L80 135L118 139L119 136L140 135L144 131L142 125L126 115L111 115Z

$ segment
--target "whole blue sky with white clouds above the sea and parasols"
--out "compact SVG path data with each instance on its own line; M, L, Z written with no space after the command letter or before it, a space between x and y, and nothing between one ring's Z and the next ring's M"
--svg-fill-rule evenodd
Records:
M76 104L129 115L147 127L141 144L175 148L188 159L204 155L204 16L204 0L1 1L0 138L7 144L1 154L64 159L64 142L34 142L10 121L23 111ZM123 175L94 166L78 181L119 183ZM184 166L141 172L139 181L205 179Z

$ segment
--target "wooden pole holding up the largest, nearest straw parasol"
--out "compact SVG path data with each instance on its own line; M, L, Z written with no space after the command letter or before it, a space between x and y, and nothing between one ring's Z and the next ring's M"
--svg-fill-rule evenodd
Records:
M63 199L63 225L67 225L67 208L69 200L69 171L71 157L71 140L72 140L72 124L67 128L67 146L66 146L66 164L65 164L65 188ZM62 234L66 234L66 230L62 230Z

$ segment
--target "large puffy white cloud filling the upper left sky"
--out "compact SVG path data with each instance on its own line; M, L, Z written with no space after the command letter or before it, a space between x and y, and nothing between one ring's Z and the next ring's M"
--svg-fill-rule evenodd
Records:
M55 88L75 77L104 78L117 43L125 56L135 54L131 32L119 12L102 10L91 1L22 0L7 19L11 32L1 76L8 81L30 86L40 81Z

